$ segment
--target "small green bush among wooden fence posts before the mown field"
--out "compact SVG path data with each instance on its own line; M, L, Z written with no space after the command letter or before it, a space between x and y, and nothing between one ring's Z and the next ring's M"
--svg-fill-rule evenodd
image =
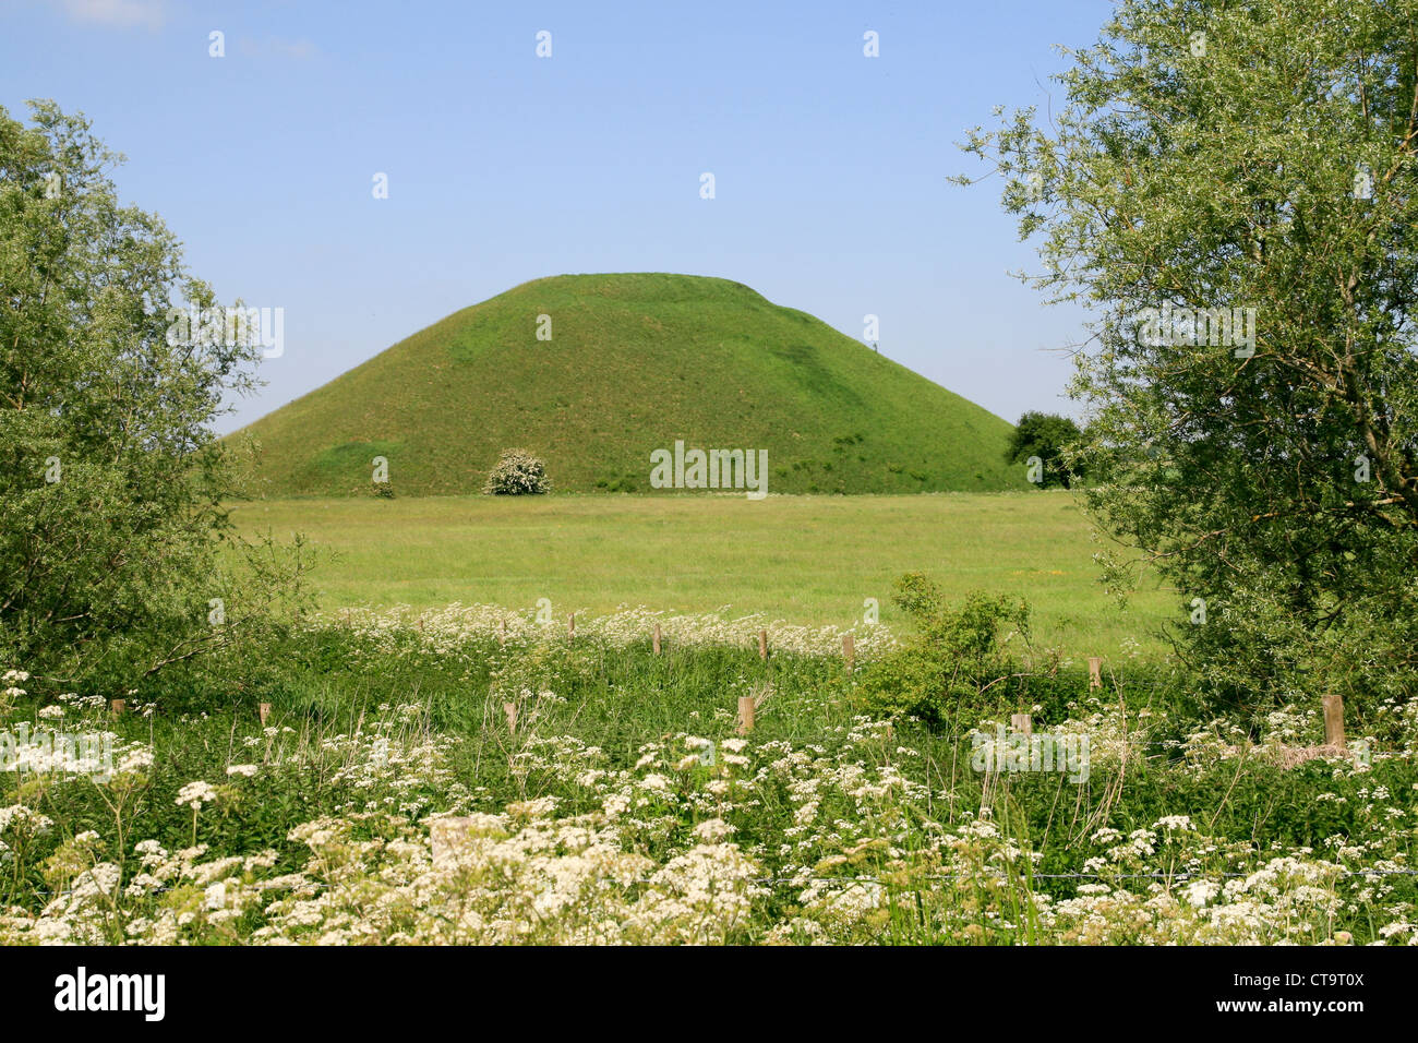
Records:
M974 592L951 607L919 572L896 580L892 600L910 617L915 634L868 667L862 692L871 710L940 725L961 711L981 710L990 690L991 704L1020 694L1021 667L1008 644L1028 640L1024 600Z

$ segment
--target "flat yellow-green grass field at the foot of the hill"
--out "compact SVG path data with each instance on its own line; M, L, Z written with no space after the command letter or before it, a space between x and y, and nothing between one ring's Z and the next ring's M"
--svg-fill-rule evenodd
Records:
M1035 636L1073 654L1156 653L1178 613L1157 587L1126 612L1098 583L1090 526L1068 492L917 497L435 497L235 505L247 535L305 534L323 609L484 602L553 612L647 606L847 626L920 570L959 596L1024 596Z

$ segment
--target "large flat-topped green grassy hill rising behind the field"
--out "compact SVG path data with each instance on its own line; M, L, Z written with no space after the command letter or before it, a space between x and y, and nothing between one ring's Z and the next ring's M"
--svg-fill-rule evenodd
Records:
M233 437L259 444L267 495L367 495L376 456L398 495L478 492L510 447L545 458L557 491L652 492L649 454L675 440L766 448L769 492L855 494L1022 485L1010 431L744 285L625 274L526 282Z

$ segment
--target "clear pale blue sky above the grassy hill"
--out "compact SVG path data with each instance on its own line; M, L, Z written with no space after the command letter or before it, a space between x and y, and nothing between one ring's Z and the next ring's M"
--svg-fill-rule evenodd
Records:
M1110 7L4 0L0 105L86 114L221 299L285 309L223 431L448 312L594 271L732 278L855 338L878 315L885 355L1014 420L1076 412L1082 315L1008 275L1035 260L997 182L946 177L977 172L956 142L994 105L1056 96L1055 44Z

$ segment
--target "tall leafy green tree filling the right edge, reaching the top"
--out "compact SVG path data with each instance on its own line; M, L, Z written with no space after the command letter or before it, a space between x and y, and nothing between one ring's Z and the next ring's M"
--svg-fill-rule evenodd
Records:
M1110 575L1156 566L1239 691L1412 687L1415 61L1415 0L1122 0L1048 123L966 143L1096 316L1089 501L1141 552Z

